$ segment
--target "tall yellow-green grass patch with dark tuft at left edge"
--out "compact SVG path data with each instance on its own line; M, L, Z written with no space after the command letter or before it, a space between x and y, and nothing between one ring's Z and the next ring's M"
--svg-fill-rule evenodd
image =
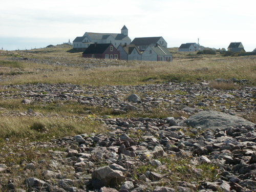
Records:
M50 138L100 131L101 124L92 118L73 117L0 117L0 138L47 141Z

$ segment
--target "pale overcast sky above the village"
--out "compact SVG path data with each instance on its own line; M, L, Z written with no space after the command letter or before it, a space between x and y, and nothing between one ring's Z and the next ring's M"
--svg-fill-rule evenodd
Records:
M85 32L162 36L168 47L197 42L256 48L255 0L1 0L0 49L34 49L73 41Z

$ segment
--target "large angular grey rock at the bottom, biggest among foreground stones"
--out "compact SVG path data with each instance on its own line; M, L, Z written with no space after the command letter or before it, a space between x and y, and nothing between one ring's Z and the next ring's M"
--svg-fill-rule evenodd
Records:
M113 170L109 166L96 168L92 173L92 180L100 180L105 186L117 187L124 180L120 170Z

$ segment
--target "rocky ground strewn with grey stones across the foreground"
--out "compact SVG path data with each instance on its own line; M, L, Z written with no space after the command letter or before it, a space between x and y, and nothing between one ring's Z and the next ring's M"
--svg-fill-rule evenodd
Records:
M44 148L38 161L0 164L2 177L15 168L27 177L1 182L3 191L253 191L256 189L256 88L220 91L209 82L145 86L25 84L2 86L1 99L24 104L75 102L112 114L178 113L167 118L96 117L108 132L81 134L20 146ZM1 109L2 116L45 116ZM90 108L86 113L92 113ZM240 116L240 117L239 117ZM6 139L6 142L9 139ZM18 145L18 144L17 144ZM56 151L54 148L62 148ZM16 154L1 156L22 156ZM50 159L44 159L49 156ZM14 167L15 166L15 167ZM40 175L40 179L36 177Z

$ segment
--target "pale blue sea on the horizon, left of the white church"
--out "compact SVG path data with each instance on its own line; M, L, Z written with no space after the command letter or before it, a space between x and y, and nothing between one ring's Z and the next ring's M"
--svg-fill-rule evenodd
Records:
M70 39L71 42L74 39ZM60 45L63 42L68 42L69 39L56 39L56 38L21 38L21 37L1 37L0 36L0 49L6 51L14 51L14 50L30 50L30 49L38 49L45 48L49 45Z

